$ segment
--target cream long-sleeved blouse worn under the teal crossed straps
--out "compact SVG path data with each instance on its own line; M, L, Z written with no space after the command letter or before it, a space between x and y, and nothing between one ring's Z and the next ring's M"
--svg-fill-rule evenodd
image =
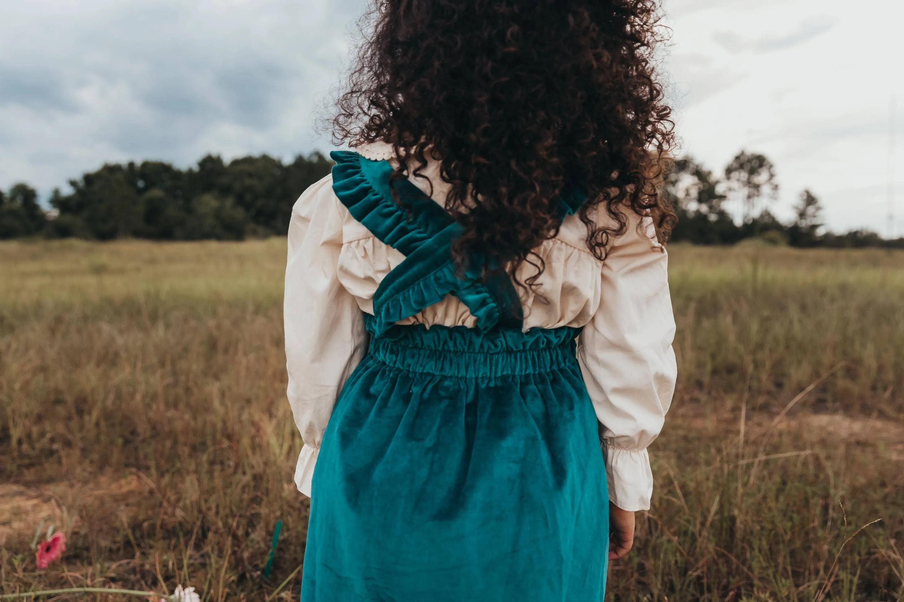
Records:
M355 150L394 160L388 144ZM411 181L443 204L448 185L438 177L438 162L430 160L422 173L428 180ZM518 288L525 330L583 327L578 359L599 420L609 498L624 510L646 510L653 494L646 448L672 402L675 327L664 247L648 219L639 223L626 214L626 232L610 242L604 262L589 252L579 217L566 218L559 235L535 250L546 269L534 290ZM363 312L373 313L374 292L404 259L355 221L336 198L332 176L306 190L292 209L284 307L288 399L305 443L295 482L306 495L336 396L367 350ZM532 274L529 265L519 272ZM473 327L475 319L448 295L400 322L411 323Z

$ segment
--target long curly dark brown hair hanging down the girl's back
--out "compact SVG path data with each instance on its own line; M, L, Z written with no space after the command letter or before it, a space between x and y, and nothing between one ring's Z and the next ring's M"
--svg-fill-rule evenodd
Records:
M661 237L675 219L658 192L673 145L659 18L655 0L376 0L334 140L393 144L394 178L419 175L426 153L441 162L459 266L477 252L514 276L527 261L532 283L544 268L532 249L558 233L570 186L589 197L579 216L604 260L620 208ZM617 226L590 217L600 204Z

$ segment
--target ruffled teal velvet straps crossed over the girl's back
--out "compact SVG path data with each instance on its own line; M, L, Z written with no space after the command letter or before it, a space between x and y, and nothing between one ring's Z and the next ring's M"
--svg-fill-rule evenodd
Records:
M330 156L336 162L333 190L340 202L373 236L405 255L373 296L377 335L447 294L467 306L478 329L522 326L521 301L508 274L497 269L481 277L485 266L499 266L497 260L475 254L464 273L457 269L451 245L462 228L444 208L410 181L391 181L394 170L388 161L372 161L351 151L334 151ZM393 188L401 205L392 198ZM578 193L563 195L562 217L573 213L580 202Z

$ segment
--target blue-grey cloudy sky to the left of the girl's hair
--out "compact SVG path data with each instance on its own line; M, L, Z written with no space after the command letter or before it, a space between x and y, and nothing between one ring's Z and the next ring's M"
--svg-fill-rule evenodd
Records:
M0 4L0 186L44 193L102 162L325 148L363 0Z

